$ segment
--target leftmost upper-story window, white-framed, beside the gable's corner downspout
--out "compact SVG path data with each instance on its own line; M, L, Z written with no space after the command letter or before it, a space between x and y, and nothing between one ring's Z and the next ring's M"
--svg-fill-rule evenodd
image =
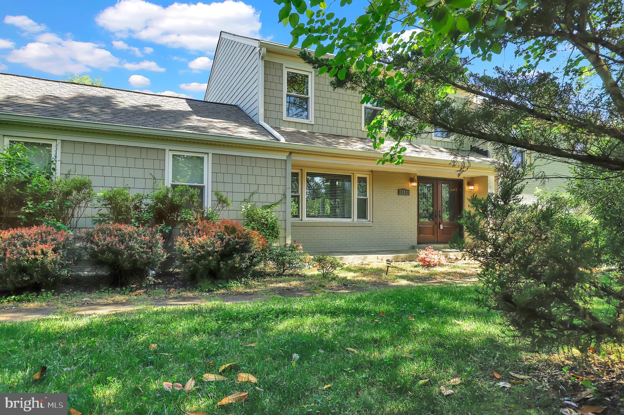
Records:
M285 69L284 118L312 122L313 82L311 72Z

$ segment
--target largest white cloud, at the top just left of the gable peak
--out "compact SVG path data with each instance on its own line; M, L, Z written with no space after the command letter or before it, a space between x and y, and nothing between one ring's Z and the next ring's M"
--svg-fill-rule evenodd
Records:
M95 17L119 37L135 37L169 47L213 52L219 32L260 37L260 12L243 1L204 4L174 2L162 7L145 0L120 0Z

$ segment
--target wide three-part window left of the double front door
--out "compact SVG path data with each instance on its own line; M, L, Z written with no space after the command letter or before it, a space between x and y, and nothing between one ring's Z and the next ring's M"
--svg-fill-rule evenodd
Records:
M304 170L292 172L291 180L292 218L341 222L371 220L369 175Z

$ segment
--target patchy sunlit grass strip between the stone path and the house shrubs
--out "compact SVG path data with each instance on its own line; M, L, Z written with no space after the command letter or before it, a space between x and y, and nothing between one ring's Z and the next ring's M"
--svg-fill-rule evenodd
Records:
M59 289L24 295L0 298L0 309L12 306L56 306L71 308L81 304L117 303L132 301L143 303L154 298L195 295L206 299L221 293L258 292L268 295L283 290L322 290L338 286L366 287L373 283L402 282L417 283L431 280L466 280L475 278L478 265L473 261L450 260L447 265L436 268L418 266L415 261L394 263L386 275L385 263L361 263L346 265L329 278L323 278L314 269L304 270L295 275L275 276L270 272L256 271L242 280L223 281L220 283L197 284L187 281L179 274L160 276L162 284L157 285L146 295L132 296L130 293L140 287L110 288L105 286L104 277L81 277L68 281ZM97 279L99 278L99 280ZM102 287L104 285L104 287ZM175 291L170 291L173 288Z

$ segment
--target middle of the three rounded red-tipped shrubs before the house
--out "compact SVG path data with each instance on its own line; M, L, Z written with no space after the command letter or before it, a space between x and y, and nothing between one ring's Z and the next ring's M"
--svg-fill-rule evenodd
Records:
M89 259L95 265L105 266L120 284L145 277L165 258L157 228L103 223L85 229L83 236Z

